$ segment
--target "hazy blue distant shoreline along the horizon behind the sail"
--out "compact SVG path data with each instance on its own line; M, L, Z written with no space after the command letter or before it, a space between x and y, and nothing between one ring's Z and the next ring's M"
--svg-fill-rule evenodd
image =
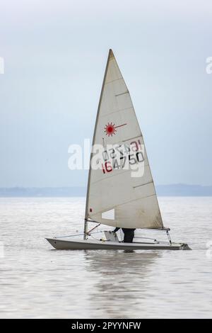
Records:
M212 186L170 184L156 186L158 196L212 196ZM0 188L1 198L83 197L86 187L12 187Z

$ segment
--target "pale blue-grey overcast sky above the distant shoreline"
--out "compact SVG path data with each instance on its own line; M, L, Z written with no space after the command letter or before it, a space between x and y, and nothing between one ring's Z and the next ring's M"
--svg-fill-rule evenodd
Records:
M0 186L86 186L68 147L93 135L110 47L155 183L212 184L211 1L2 0L0 32Z

